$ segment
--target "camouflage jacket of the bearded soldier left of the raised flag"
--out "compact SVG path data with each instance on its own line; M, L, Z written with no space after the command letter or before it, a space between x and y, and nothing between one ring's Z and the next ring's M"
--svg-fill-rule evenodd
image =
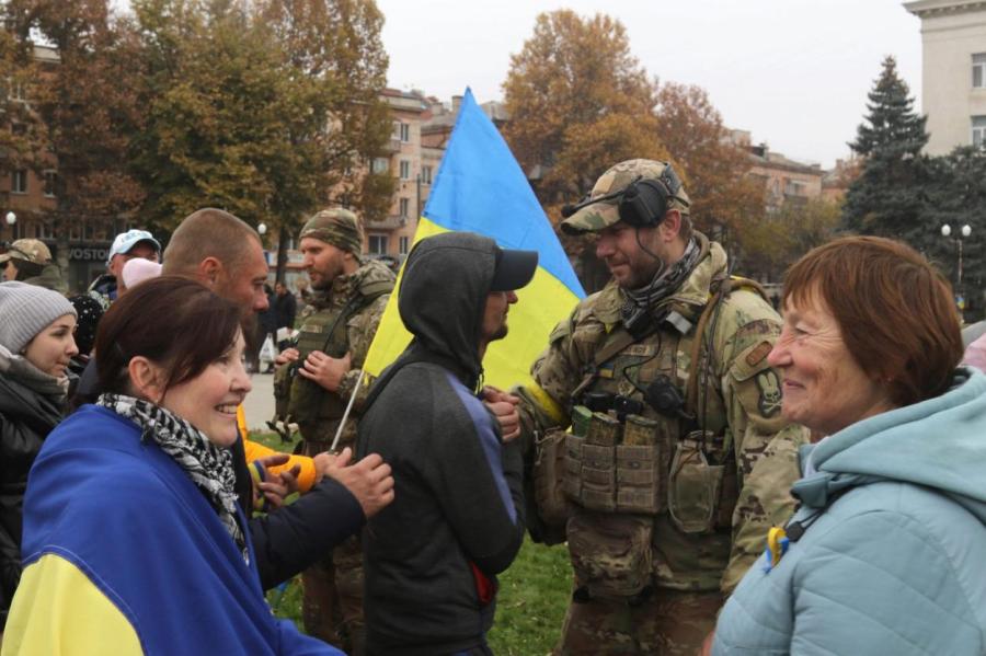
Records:
M344 353L348 353L351 356L351 369L343 376L342 382L340 382L339 389L335 392L321 390L322 396L333 408L344 408L355 390L356 381L362 373L363 362L366 359L367 352L369 352L370 343L374 341L377 327L380 325L380 319L383 317L387 299L390 296L389 291L379 294L380 287L381 285L383 287L389 286L389 288L392 289L393 281L393 272L375 260L367 260L352 274L335 278L328 292L313 296L312 304L310 306L311 311L306 312L301 318L299 333L301 333L303 341L306 326L310 330L321 332L324 330L322 324L325 324L326 322L331 324L334 318L345 311L346 306L351 301L354 301L355 297L359 295L375 296L372 300L362 307L359 307L359 300L356 299L355 302L357 309L348 313L345 325L346 344ZM376 296L376 294L374 294L375 291L379 295ZM300 359L303 360L303 358L308 356L309 349L299 348L299 350L301 352ZM344 353L329 355L332 357L342 357ZM300 380L300 377L298 376L295 377L294 381L289 382L291 383L290 393L293 395L299 393L299 390L301 389L299 385L313 384L310 381ZM365 375L356 396L356 402L353 406L353 416L351 416L343 430L343 435L340 438L340 448L342 448L342 446L352 445L356 439L355 415L358 413L363 401L366 400L371 382L369 376ZM317 423L306 422L302 421L301 417L295 417L301 429L301 436L310 441L331 442L335 436L335 430L339 427L337 419L342 416L342 410L329 414L332 415L329 421L320 421Z

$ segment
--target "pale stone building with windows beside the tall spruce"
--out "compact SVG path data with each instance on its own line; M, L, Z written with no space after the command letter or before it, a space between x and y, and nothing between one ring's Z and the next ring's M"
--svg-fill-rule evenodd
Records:
M916 0L921 20L921 112L928 154L986 143L986 2Z

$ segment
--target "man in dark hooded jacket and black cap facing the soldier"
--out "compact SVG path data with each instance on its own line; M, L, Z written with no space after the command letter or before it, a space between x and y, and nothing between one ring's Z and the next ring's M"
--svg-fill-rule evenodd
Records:
M478 398L537 253L450 232L422 241L398 307L414 339L367 401L357 440L393 467L395 500L364 532L368 654L489 654L495 575L524 538L521 460Z

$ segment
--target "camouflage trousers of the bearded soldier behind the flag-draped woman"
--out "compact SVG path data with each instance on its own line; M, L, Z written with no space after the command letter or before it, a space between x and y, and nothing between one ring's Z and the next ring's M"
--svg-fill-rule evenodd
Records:
M301 573L305 632L353 656L366 651L363 549L356 537Z

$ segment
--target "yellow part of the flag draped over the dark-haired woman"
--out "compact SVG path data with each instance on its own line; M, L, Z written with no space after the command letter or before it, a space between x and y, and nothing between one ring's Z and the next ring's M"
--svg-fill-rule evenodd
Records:
M47 554L21 575L2 656L144 654L137 632L100 589L67 560Z

